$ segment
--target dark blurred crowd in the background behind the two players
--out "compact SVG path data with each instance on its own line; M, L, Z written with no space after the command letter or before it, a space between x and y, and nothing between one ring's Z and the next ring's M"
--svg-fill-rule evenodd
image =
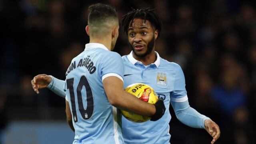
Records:
M216 143L255 143L255 0L0 0L0 131L14 120L66 120L65 100L48 89L37 95L30 80L43 73L64 80L89 42L87 8L96 2L114 6L120 19L131 7L156 8L163 23L156 51L182 67L190 106L220 126ZM127 43L120 29L114 51L129 54ZM170 111L172 144L210 143L205 130Z

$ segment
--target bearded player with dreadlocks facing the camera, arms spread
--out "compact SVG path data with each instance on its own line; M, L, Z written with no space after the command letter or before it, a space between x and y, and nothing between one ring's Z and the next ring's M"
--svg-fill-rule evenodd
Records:
M122 130L126 144L168 144L170 143L169 106L183 124L193 128L204 128L212 137L212 142L220 136L219 126L210 118L190 107L185 88L185 78L181 67L168 62L155 51L155 42L160 36L162 22L149 8L132 9L122 17L122 27L128 36L132 52L122 56L124 62L124 88L134 83L151 86L164 99L166 111L156 122L134 123L122 117ZM36 77L38 78L38 77ZM48 76L47 87L60 96L62 82ZM58 84L60 86L58 86ZM59 88L58 88L59 87ZM38 92L38 89L36 89Z

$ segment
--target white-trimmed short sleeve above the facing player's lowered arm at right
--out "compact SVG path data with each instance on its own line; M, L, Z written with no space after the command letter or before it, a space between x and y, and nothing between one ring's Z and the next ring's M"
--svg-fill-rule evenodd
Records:
M178 65L174 79L174 90L171 92L171 101L184 102L188 100L185 86L185 77L181 67Z

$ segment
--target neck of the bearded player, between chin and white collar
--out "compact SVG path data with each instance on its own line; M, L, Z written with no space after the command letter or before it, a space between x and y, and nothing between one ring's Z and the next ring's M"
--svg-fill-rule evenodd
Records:
M142 64L144 64L145 66L154 63L156 61L156 58L157 58L156 53L155 53L155 48L153 48L153 50L150 52L150 54L148 54L148 55L146 55L144 57L136 56L134 54L134 52L132 52L132 56L136 60L142 62Z

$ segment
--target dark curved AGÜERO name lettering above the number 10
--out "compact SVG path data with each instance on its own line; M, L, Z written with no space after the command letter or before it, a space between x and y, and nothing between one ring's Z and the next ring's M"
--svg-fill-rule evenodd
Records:
M92 60L90 59L90 56L87 56L84 59L80 59L77 66L76 66L76 61L72 62L68 67L66 76L75 68L82 67L82 66L86 67L90 74L93 74L96 71L96 67L94 66L94 63L92 62Z

